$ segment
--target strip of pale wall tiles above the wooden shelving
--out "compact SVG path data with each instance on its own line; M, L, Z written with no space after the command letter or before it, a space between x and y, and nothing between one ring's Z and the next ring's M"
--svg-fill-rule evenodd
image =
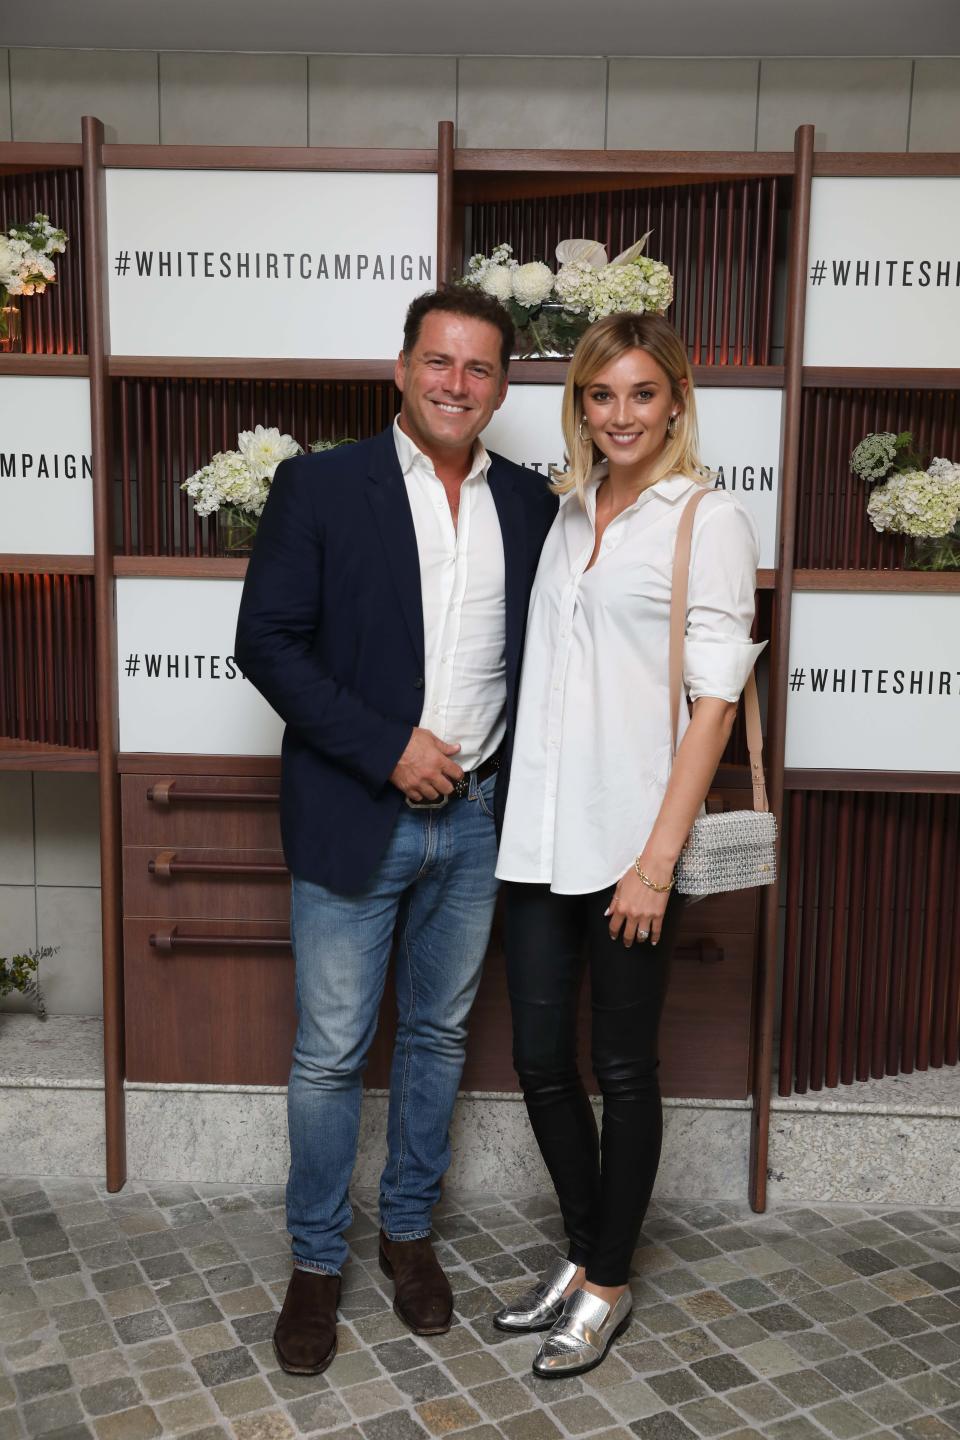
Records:
M0 140L782 150L960 148L960 58L577 59L0 50Z

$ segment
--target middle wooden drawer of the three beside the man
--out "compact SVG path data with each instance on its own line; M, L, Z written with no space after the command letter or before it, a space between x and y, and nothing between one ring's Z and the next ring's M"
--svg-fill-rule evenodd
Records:
M124 914L173 920L289 920L281 850L124 847Z

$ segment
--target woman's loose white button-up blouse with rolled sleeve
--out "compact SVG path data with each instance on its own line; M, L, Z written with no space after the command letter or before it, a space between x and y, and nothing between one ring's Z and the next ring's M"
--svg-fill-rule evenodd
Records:
M587 894L615 884L653 827L671 770L669 603L676 527L697 481L643 491L594 546L597 467L586 510L564 495L530 599L520 710L497 874ZM724 491L694 518L684 644L691 700L737 700L753 645L759 543ZM679 707L679 736L689 723Z

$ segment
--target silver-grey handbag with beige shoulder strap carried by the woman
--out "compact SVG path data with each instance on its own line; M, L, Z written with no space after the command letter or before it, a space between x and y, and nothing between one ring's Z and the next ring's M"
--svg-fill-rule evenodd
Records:
M687 632L687 585L689 579L689 550L694 533L694 513L707 490L698 490L684 507L674 552L671 590L669 690L674 755L684 674L684 635ZM676 861L675 886L685 896L712 896L724 890L748 890L771 886L777 877L777 821L767 802L763 776L763 732L757 681L747 678L743 693L747 717L747 749L753 809L724 811L720 815L699 815L687 837Z

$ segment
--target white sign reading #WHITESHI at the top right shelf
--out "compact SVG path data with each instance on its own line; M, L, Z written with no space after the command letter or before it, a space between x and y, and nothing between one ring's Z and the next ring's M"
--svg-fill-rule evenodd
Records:
M960 180L813 181L803 363L957 364Z

